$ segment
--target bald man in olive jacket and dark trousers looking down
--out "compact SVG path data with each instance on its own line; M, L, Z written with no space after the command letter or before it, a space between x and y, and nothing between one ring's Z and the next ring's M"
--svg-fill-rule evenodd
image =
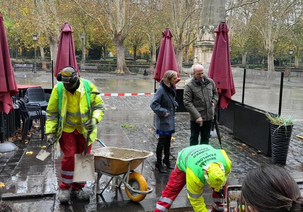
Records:
M194 67L193 79L185 85L183 102L190 117L190 146L208 144L211 122L214 118L215 105L218 103L218 91L212 79L204 76L204 67Z

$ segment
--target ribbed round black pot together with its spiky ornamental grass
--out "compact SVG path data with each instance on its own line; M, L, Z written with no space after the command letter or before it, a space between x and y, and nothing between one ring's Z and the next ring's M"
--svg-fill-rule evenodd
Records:
M295 118L266 113L270 121L272 162L285 165Z

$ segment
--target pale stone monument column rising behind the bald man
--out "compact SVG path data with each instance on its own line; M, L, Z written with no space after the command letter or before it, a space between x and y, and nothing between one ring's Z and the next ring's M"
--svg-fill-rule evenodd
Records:
M204 0L199 24L197 44L194 47L194 65L207 64L215 44L215 28L226 21L225 0Z

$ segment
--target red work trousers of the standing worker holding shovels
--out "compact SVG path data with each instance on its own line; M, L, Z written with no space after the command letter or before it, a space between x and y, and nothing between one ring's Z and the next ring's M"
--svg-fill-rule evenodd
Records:
M64 157L61 162L61 178L62 181L59 187L62 190L66 190L72 187L74 190L83 188L86 182L74 182L74 165L75 154L81 154L84 151L85 138L81 133L75 129L74 132L62 132L59 139L61 151L64 153ZM87 153L91 152L92 145L88 146Z

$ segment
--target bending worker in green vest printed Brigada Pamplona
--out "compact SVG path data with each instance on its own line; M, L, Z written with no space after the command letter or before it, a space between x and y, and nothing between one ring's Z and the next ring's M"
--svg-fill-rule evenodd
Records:
M227 177L231 161L224 150L207 144L190 146L178 153L177 165L157 202L155 212L166 212L187 185L187 196L196 212L207 212L204 203L203 186L207 183L213 189L212 212L224 211L226 203Z

